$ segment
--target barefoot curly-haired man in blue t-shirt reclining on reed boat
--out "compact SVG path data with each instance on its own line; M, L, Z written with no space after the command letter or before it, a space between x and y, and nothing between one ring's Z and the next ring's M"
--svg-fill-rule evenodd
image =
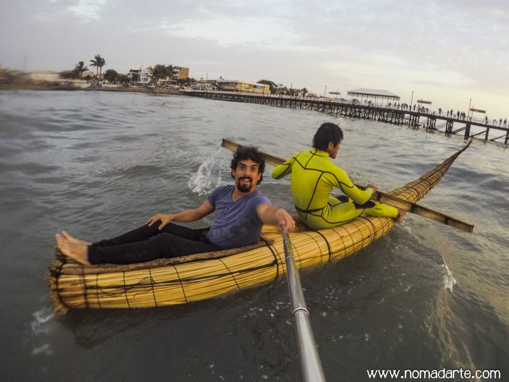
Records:
M233 155L235 184L219 186L196 209L152 216L143 227L118 237L90 243L62 231L56 234L60 251L75 261L89 264L130 264L159 258L214 252L243 247L258 241L262 225L295 228L292 216L272 206L257 190L263 179L265 159L255 147L239 148ZM209 232L171 222L194 222L215 211Z

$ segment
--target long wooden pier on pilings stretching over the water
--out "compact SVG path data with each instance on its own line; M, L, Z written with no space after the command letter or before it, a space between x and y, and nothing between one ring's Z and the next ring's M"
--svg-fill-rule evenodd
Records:
M430 131L443 131L447 135L463 132L465 138L471 135L472 127L479 127L481 132L476 132L479 138L484 137L488 141L490 130L500 131L499 137L490 139L497 140L504 138L504 144L509 143L509 128L490 124L490 121L474 119L455 118L453 116L437 115L437 112L402 110L387 105L362 105L345 102L324 101L319 98L296 98L290 96L276 96L255 93L239 93L227 91L203 91L203 90L181 90L181 94L216 99L231 102L256 103L277 107L290 107L302 110L315 110L343 117L371 119L374 121L392 123L396 125L407 125L409 127L422 127ZM438 124L437 124L438 123ZM498 133L495 132L496 135Z

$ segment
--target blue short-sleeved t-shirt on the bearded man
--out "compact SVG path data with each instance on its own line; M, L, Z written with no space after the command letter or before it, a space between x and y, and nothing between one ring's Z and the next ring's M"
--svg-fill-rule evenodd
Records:
M234 202L234 187L233 184L219 186L209 195L209 203L215 208L216 214L207 238L222 249L256 243L263 226L256 208L260 204L270 204L270 200L259 191Z

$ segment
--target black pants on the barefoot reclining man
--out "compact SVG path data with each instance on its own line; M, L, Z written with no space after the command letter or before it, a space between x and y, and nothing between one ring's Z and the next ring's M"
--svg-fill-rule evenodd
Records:
M89 245L90 263L131 264L221 250L200 231L172 223L159 230L160 225L157 221L150 227L145 225Z

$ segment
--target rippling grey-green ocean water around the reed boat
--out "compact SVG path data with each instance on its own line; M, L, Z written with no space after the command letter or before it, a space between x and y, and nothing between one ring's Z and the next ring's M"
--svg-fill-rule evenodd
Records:
M345 133L334 162L386 192L465 145L180 95L0 92L2 380L300 380L284 279L183 306L53 317L45 277L56 232L99 240L200 205L231 182L221 138L288 157L323 122ZM327 380L370 380L376 369L497 370L509 380L508 159L503 145L478 140L419 202L474 224L472 234L408 214L356 255L301 271ZM289 179L270 171L259 189L292 211Z

